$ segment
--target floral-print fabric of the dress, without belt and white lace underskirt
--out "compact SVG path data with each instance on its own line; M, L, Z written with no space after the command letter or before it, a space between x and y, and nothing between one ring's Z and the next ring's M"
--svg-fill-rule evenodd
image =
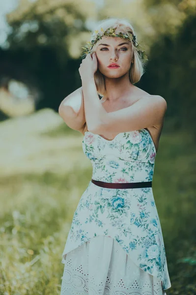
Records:
M152 181L156 149L149 132L119 133L112 141L85 132L83 150L93 167L92 178L104 182ZM111 189L91 181L74 212L63 251L66 254L93 236L115 239L142 270L170 288L161 224L152 187Z

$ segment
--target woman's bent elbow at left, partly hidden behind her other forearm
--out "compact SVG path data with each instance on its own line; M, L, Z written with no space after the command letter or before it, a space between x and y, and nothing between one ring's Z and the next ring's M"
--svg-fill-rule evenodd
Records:
M86 131L86 120L82 87L76 89L63 99L59 105L58 113L70 128L84 134L84 131Z

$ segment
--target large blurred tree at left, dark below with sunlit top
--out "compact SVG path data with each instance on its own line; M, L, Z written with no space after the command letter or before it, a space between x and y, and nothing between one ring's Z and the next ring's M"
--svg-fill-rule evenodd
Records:
M88 0L21 0L7 15L12 31L7 49L0 52L0 64L11 59L13 66L20 63L27 76L35 77L34 83L43 93L37 109L57 111L62 99L80 87L78 58L90 35L87 18L96 19L95 4ZM13 73L7 71L6 75L12 77ZM0 71L0 77L3 75Z

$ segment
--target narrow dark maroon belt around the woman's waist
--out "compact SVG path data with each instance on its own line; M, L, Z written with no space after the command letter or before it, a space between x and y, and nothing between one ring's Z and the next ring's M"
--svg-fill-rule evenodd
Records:
M152 187L152 181L141 181L141 182L127 182L127 183L111 183L99 180L91 179L91 182L106 188L140 188L140 187Z

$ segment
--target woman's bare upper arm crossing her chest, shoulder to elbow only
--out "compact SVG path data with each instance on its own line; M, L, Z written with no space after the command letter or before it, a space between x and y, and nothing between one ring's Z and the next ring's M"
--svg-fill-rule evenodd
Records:
M167 102L160 95L151 95L140 98L130 107L104 113L99 112L99 124L92 130L93 133L102 132L121 133L156 127L163 124Z

